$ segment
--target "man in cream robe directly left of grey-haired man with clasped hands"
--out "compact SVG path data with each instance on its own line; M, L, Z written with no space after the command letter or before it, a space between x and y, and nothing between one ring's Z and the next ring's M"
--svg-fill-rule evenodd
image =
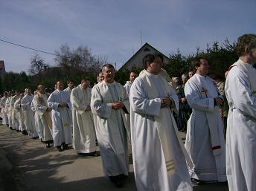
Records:
M91 111L91 91L89 79L83 79L81 84L71 91L73 116L73 148L78 155L96 155L95 125Z

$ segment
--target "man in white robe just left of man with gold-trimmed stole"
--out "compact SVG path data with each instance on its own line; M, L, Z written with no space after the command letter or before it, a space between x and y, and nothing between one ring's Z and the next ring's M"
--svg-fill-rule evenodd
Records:
M38 134L36 132L35 114L31 109L31 103L33 100L33 94L31 94L31 88L26 88L27 94L22 98L22 109L25 111L25 126L28 135L36 138Z

